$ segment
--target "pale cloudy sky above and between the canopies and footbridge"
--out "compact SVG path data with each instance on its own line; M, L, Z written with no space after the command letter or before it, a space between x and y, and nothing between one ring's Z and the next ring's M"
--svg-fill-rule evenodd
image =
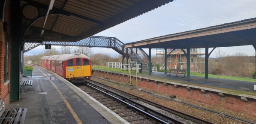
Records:
M256 0L174 0L94 36L116 37L123 43L136 42L157 36L256 18L255 5ZM59 47L57 49L60 50ZM209 48L209 51L212 49ZM39 46L24 54L40 54L44 50L44 46ZM94 54L104 53L113 57L118 55L110 48L92 48L92 50ZM148 53L148 49L144 49L144 51ZM222 51L226 55L233 55L237 52L249 56L255 55L252 45L225 47L222 48ZM156 49L152 49L151 54L155 55ZM215 57L215 54L211 54L210 57Z

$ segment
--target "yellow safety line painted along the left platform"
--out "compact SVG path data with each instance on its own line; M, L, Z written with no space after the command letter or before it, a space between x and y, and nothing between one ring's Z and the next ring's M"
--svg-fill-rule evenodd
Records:
M40 70L40 69L38 69ZM40 70L41 71L41 70ZM41 71L42 72L42 71ZM43 72L42 72L43 73ZM44 76L46 76L46 74L43 73ZM46 78L48 78L46 76ZM74 112L74 110L72 109L72 107L70 106L70 104L68 103L68 101L65 99L65 97L63 97L62 93L59 91L59 89L56 87L56 85L51 81L49 80L52 85L54 86L54 88L58 91L59 93L59 96L62 97L62 100L64 101L64 103L66 104L66 106L68 107L69 111L71 112L71 114L73 115L73 117L75 118L75 120L77 121L77 124L83 124L82 121L78 118L77 114Z

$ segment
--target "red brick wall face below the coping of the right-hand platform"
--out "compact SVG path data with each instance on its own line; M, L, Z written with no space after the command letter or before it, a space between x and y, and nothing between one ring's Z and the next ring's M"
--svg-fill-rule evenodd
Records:
M121 82L125 84L130 84L130 77L104 73L104 72L93 72L93 76L105 78L112 80L114 82ZM131 78L132 84L136 85L136 79ZM251 115L256 117L256 100L247 98L248 101L241 100L240 96L225 94L225 97L219 96L218 92L214 91L206 91L206 93L202 93L200 89L191 88L188 90L184 86L179 86L176 88L172 84L164 85L163 82L155 83L152 80L147 79L138 79L138 86L150 88L154 91L160 91L167 94L176 95L176 97L187 98L191 100L195 100L201 103L206 103L213 106L218 106L220 108L229 109L234 112L239 112L241 114Z

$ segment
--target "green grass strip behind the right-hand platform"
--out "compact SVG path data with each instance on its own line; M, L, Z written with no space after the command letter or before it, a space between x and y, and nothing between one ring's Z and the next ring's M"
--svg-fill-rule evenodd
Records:
M110 71L110 72L118 72L118 73L125 73L129 74L129 70L122 70L122 69L114 69L114 68L108 68L108 67L102 67L102 66L92 66L93 69L98 69L98 70L105 70L105 71ZM131 74L136 74L135 70L131 71ZM140 75L148 75L148 73L138 73ZM201 73L195 73L195 72L190 72L191 76L203 76L204 74ZM209 74L208 77L211 78L219 78L219 79L229 79L229 80L238 80L238 81L247 81L247 82L255 82L255 79L252 78L241 78L241 77L233 77L233 76L217 76L217 75L212 75Z

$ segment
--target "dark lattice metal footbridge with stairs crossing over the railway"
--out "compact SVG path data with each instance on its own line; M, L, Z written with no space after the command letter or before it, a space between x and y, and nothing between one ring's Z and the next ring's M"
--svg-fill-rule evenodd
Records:
M36 48L39 45L59 45L59 46L79 46L79 47L102 47L102 48L112 48L122 55L122 64L124 58L126 58L126 64L128 64L128 59L136 61L140 64L141 73L148 73L148 54L145 53L142 48L126 48L125 44L115 37L105 37L105 36L90 36L86 39L82 39L77 42L63 42L63 41L43 41L43 42L25 42L23 51L27 51Z

